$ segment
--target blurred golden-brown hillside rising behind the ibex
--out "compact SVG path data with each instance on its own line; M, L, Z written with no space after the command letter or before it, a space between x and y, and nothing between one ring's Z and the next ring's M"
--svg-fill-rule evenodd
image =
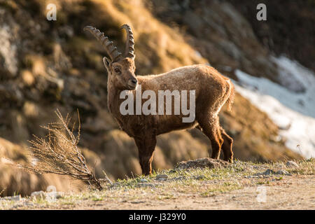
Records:
M57 21L45 19L48 2L57 5ZM96 162L96 175L102 176L104 170L115 180L141 173L134 141L118 129L107 109L107 74L102 64L106 52L83 32L85 25L105 31L123 49L125 33L119 28L130 24L136 41L137 75L162 73L188 64L211 64L235 80L235 70L241 69L288 86L269 59L271 52L232 4L209 1L181 10L185 6L169 6L172 1L160 1L166 4L162 6L157 2L0 1L0 158L27 162L27 140L33 134L47 134L39 126L54 122L56 109L73 117L78 109L80 148L91 167ZM288 88L303 91L298 82ZM302 158L286 147L286 139L279 139L279 127L267 113L241 94L237 93L232 112L223 109L220 118L235 140L238 160ZM197 130L165 134L158 138L153 168L172 169L176 162L207 157L209 150L209 141ZM4 160L0 160L0 177L3 195L17 191L29 195L64 182L59 176L8 168ZM69 183L70 187L68 183L66 180L58 185L58 190L83 189L82 183Z

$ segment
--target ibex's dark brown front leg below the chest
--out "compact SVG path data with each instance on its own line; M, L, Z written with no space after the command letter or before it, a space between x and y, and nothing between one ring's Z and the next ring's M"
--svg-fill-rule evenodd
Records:
M156 146L156 136L154 134L146 134L142 138L134 138L139 152L139 162L142 174L151 174L151 162L153 160L153 152Z

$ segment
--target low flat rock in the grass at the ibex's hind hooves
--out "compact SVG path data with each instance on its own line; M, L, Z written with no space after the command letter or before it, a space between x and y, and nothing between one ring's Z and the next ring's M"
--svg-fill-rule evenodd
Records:
M176 167L179 169L188 169L188 168L221 168L228 167L230 165L229 162L225 162L223 160L215 160L210 158L202 158L198 160L189 160L188 162L179 162Z

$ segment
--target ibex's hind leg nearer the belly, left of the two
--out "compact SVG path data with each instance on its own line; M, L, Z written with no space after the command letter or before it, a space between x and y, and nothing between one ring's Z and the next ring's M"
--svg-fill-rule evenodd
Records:
M220 126L218 125L218 117L214 118L204 118L198 120L200 127L202 127L202 132L210 139L212 154L211 158L218 160L220 157L221 146L223 144L223 138L221 137Z

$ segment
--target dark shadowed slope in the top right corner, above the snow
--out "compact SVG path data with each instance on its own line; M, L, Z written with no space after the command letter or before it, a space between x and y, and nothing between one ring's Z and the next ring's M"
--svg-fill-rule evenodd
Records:
M315 71L315 1L230 0L251 24L262 45ZM258 3L267 6L267 21L255 20ZM293 28L293 29L292 29Z

